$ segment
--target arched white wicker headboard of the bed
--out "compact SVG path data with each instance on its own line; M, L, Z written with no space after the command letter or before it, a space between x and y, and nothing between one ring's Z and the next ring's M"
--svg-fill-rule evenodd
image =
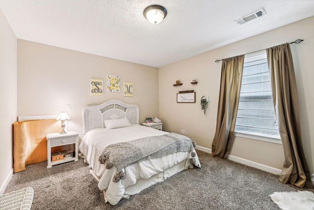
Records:
M138 106L116 99L99 105L84 106L82 109L83 135L92 129L104 127L105 120L120 118L128 118L131 124L138 124Z

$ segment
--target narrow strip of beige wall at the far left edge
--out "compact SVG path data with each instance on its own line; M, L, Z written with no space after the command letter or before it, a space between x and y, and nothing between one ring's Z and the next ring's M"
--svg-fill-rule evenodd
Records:
M12 176L12 123L17 116L17 38L0 10L0 194Z

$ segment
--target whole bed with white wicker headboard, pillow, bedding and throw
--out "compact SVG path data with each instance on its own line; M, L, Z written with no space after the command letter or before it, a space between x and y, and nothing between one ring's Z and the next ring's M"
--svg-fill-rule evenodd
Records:
M111 205L183 170L201 167L194 142L139 125L137 105L120 100L88 105L82 109L82 122L81 157Z

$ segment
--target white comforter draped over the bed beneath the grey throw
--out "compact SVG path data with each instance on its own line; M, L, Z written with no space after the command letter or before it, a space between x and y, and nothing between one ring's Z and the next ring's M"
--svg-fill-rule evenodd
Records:
M142 125L106 130L97 128L88 131L83 137L79 150L88 162L91 173L99 181L98 187L104 190L105 201L116 205L122 198L128 198L146 187L172 176L183 169L201 167L198 156L189 152L177 152L161 158L149 159L125 168L126 177L113 182L116 168L106 169L98 160L103 150L110 144L127 142L147 136L159 136L168 132Z

